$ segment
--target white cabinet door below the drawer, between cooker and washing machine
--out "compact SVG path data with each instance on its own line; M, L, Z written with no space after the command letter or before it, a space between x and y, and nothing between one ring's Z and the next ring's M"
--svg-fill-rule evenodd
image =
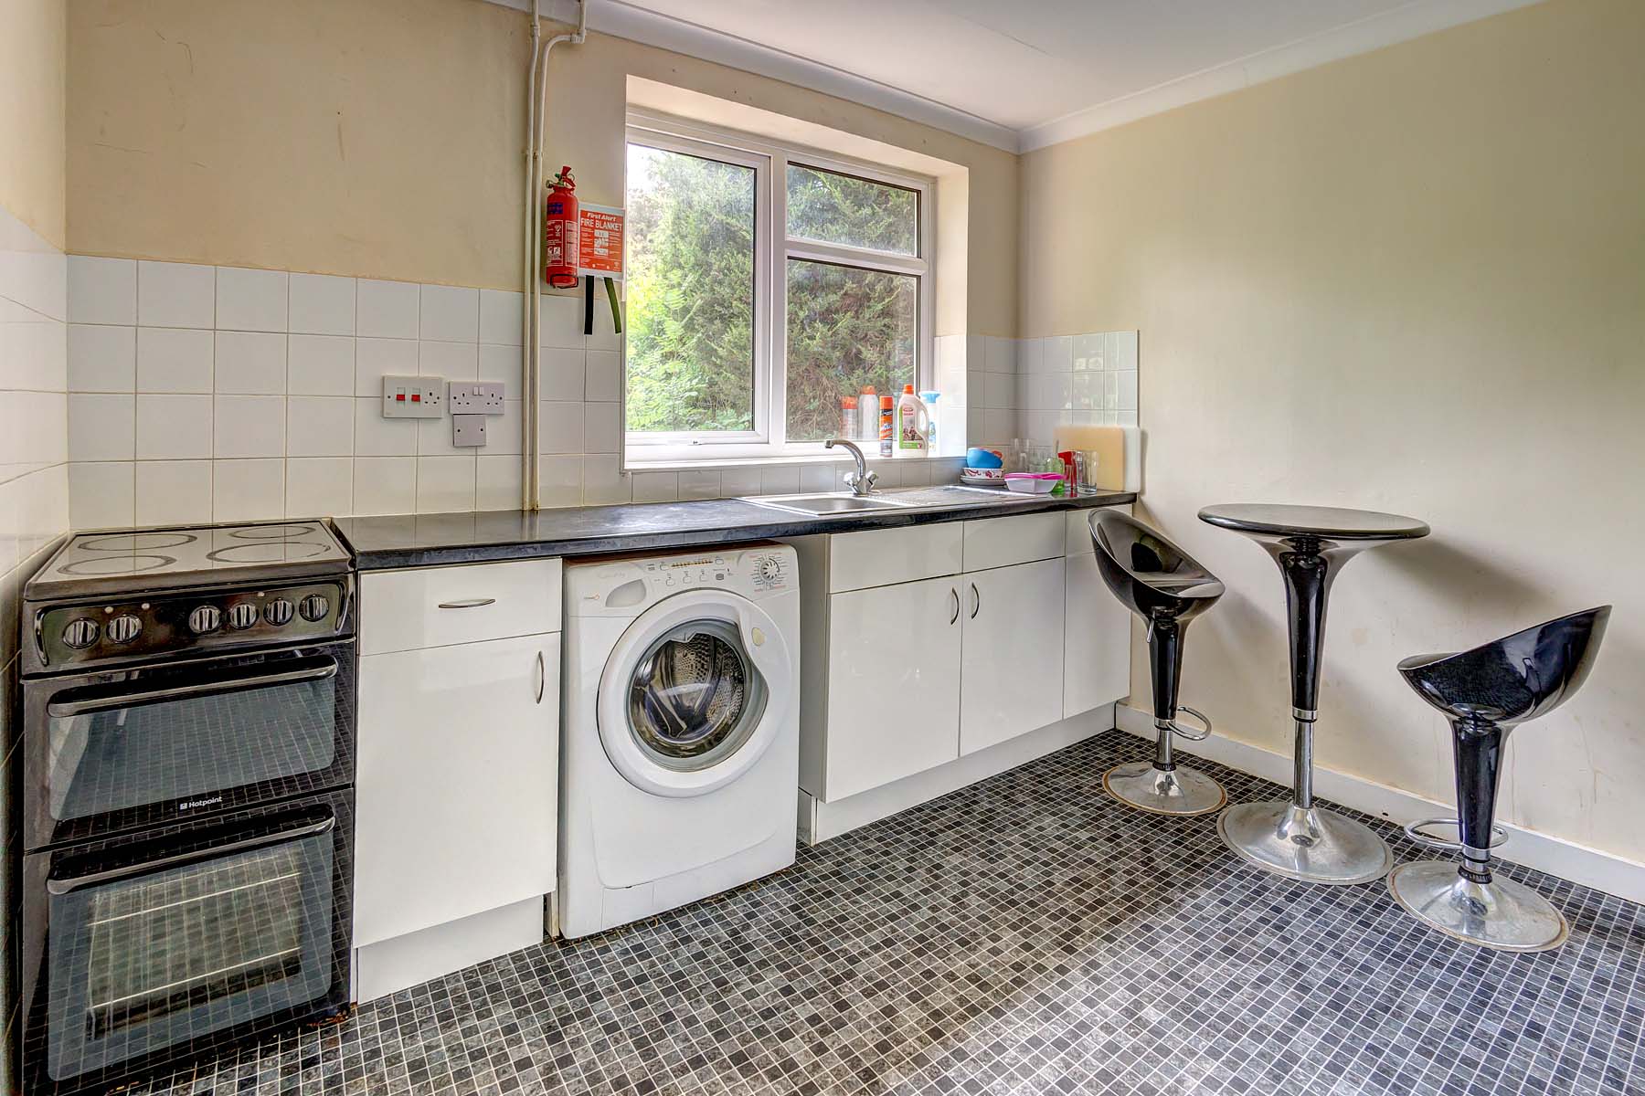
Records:
M559 634L360 659L355 946L554 889Z

